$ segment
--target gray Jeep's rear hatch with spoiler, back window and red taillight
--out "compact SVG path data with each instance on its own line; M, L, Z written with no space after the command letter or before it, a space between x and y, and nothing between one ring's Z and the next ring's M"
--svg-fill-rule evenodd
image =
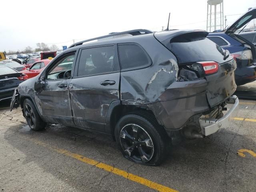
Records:
M206 97L215 107L227 100L236 90L236 62L228 51L206 38L202 30L155 33L158 39L177 58L177 81L206 79Z

